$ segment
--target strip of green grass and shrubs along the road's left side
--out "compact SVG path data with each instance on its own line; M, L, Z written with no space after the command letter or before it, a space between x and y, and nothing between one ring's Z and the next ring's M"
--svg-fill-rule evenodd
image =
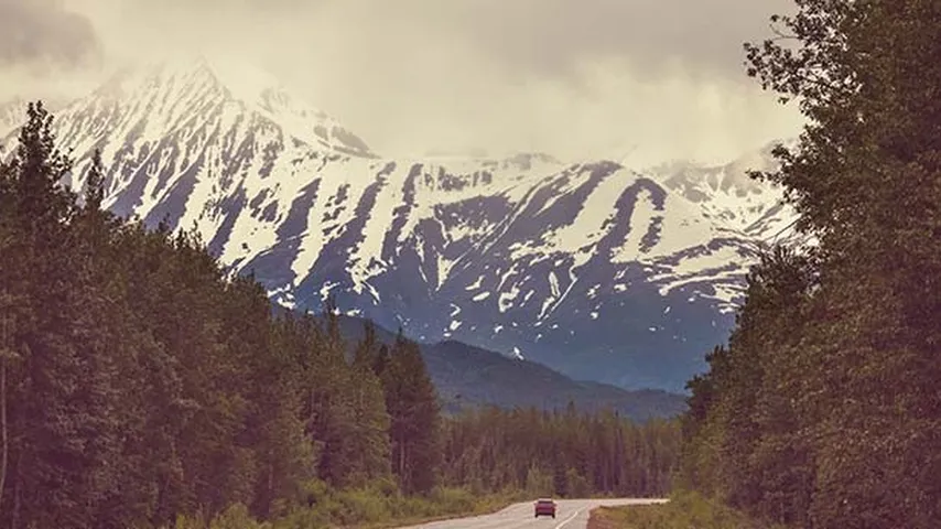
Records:
M234 505L212 520L181 517L167 529L391 529L490 514L524 497L519 492L476 495L447 487L435 488L428 496L403 496L382 487L320 488L314 490L313 505L285 509L274 521L258 521L244 505Z

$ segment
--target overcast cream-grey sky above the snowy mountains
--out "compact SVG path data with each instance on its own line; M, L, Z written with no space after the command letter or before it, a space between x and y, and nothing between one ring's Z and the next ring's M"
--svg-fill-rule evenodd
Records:
M800 117L742 43L792 0L0 0L0 97L117 61L259 62L386 155L539 150L723 161ZM44 95L48 91L44 91ZM642 159L642 160L641 160Z

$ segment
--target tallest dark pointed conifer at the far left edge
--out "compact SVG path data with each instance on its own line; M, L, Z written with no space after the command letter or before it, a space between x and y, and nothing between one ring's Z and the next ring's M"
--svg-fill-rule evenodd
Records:
M8 498L0 522L87 527L112 485L112 363L94 324L101 309L91 295L93 264L72 244L75 196L60 183L71 161L55 148L42 104L31 104L28 118L0 184L0 225L12 242L0 291L19 305L4 314L3 361L17 361L4 374L10 479L0 490Z

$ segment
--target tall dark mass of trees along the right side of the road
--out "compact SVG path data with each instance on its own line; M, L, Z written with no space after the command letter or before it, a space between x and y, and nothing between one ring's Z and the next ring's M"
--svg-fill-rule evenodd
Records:
M941 2L799 0L749 73L800 100L778 172L812 248L749 279L691 381L682 476L802 528L941 520Z

